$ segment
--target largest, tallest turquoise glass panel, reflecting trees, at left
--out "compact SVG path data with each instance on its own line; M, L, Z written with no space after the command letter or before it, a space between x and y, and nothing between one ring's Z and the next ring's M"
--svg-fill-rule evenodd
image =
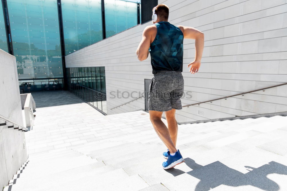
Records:
M57 1L7 0L19 79L63 77Z

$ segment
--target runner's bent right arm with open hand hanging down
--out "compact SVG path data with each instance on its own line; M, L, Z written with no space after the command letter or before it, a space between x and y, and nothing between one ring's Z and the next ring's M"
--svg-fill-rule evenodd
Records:
M184 38L195 39L195 59L187 67L190 67L191 73L196 73L201 64L201 57L204 47L204 34L203 32L187 26L177 26L183 31Z

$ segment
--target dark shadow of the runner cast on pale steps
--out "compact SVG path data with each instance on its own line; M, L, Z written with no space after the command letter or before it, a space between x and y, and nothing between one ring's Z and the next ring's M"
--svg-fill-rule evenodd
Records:
M185 163L187 166L193 169L192 171L187 172L187 174L200 180L195 188L195 191L210 190L221 184L234 187L251 185L262 190L277 191L280 189L279 185L273 180L267 178L267 175L287 175L287 166L274 161L271 161L268 164L258 168L245 166L248 169L252 169L246 174L232 169L219 161L202 166L197 164L191 158L185 158ZM173 176L178 176L185 173L184 171L175 168L168 169L166 171Z

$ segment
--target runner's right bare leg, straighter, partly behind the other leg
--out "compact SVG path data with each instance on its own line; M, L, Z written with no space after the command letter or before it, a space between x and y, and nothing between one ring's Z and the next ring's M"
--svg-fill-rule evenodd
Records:
M177 121L175 120L175 111L176 109L172 109L165 112L169 135L174 146L177 145L177 132L178 132Z

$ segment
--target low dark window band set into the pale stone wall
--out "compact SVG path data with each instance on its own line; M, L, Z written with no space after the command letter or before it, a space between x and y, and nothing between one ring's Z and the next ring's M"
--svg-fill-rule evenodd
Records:
M105 67L66 69L69 91L106 114Z

